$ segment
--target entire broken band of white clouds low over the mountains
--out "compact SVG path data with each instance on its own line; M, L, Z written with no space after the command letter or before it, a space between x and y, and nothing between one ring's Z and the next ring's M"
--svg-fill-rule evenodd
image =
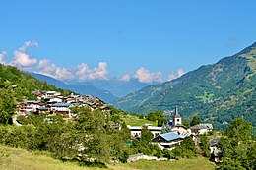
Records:
M107 70L106 62L99 62L98 66L94 69L90 69L87 63L79 64L73 68L59 67L52 63L48 59L40 59L32 57L28 54L28 48L38 47L39 44L33 41L24 42L23 46L13 52L13 58L11 62L6 62L6 51L0 53L0 63L6 65L13 65L19 69L43 74L53 77L58 80L108 80L109 72ZM170 74L168 81L176 79L184 74L182 69L177 70L175 74ZM161 79L161 72L150 72L144 67L139 68L135 74L126 73L119 80L128 82L132 78L137 79L141 83L163 82Z

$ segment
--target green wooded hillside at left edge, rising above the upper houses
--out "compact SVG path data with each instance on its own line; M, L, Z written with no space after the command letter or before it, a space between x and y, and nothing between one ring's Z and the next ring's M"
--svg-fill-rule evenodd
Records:
M64 95L70 92L38 81L15 67L0 64L0 123L10 123L16 102L36 99L32 95L32 91L36 89L55 90Z

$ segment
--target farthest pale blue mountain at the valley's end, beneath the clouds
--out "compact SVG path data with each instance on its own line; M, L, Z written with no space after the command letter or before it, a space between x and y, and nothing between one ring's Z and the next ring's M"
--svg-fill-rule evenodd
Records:
M118 97L124 97L134 91L140 90L148 85L156 85L157 83L140 83L136 79L130 81L120 81L116 78L110 80L91 80L86 82L68 82L68 84L76 85L93 85L96 88L110 91L112 94Z

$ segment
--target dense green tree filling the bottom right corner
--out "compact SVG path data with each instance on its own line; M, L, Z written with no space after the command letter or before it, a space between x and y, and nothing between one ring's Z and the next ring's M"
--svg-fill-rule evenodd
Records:
M219 141L221 161L219 169L255 169L256 142L252 126L243 118L234 119Z

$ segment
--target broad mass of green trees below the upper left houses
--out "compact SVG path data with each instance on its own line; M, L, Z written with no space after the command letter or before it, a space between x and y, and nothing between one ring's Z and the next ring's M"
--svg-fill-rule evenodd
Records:
M129 156L125 144L130 131L125 122L121 130L111 129L111 114L97 109L74 108L78 118L63 121L61 116L46 115L21 117L23 126L0 126L0 144L28 150L49 151L61 160L76 160L104 164L110 160L126 162ZM26 125L27 124L27 125ZM146 135L145 137L147 137Z

